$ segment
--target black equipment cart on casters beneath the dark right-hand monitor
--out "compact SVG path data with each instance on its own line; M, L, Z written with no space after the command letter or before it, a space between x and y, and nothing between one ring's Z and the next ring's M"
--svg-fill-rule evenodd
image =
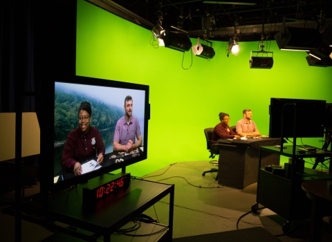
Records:
M285 163L288 172L285 171L284 176L259 169L257 201L252 206L252 211L256 212L259 204L267 207L288 220L288 223L283 226L283 230L289 232L292 221L308 219L311 216L311 201L306 198L306 193L302 190L302 183L306 180L332 179L329 174L304 167L302 158L332 156L332 152L320 150L301 153L293 145L286 147L287 149L283 150L273 146L260 147L260 152L270 152L292 158L292 163Z

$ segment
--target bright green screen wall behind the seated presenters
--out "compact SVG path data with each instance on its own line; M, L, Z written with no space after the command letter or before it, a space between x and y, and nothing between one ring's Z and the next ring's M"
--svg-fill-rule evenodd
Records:
M332 102L332 68L308 66L306 53L279 50L275 41L268 41L273 68L259 70L249 68L250 51L257 50L257 41L240 42L239 55L230 57L225 42L212 41L216 55L210 61L192 57L190 51L183 60L181 52L151 46L151 35L78 1L76 74L150 86L148 158L129 167L134 176L174 162L208 160L203 129L214 127L221 111L230 114L232 126L242 118L243 109L252 109L259 130L268 135L270 97ZM303 120L310 126L311 118L315 117L308 113ZM322 145L318 138L302 140Z

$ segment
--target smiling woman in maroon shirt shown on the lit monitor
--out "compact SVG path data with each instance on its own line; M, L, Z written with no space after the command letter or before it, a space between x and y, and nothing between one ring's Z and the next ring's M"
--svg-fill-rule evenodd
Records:
M91 114L90 103L81 102L78 109L78 128L68 134L64 144L62 169L73 171L75 176L82 174L81 163L95 159L96 153L99 165L104 160L104 142L98 129L90 126Z

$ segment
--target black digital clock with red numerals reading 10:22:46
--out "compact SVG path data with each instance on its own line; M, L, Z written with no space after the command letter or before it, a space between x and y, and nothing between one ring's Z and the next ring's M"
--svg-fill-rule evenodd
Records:
M83 202L98 201L128 187L130 184L130 173L120 172L116 175L104 174L93 178L83 187Z

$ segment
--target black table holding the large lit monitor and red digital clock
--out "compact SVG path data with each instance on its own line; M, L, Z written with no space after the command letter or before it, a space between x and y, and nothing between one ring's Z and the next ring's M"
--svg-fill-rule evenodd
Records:
M103 176L111 176L104 174ZM167 241L172 241L173 212L174 212L174 185L157 183L149 180L131 179L127 189L112 194L92 205L82 203L82 185L72 189L68 194L61 192L53 194L48 199L48 220L36 219L43 211L44 198L39 194L26 198L21 204L21 218L48 226L57 232L70 234L85 241L96 241L104 236L104 241L110 241L111 234L127 224L149 207L169 194L169 224L164 235ZM15 216L15 207L10 207L4 213ZM29 216L26 214L33 214ZM51 221L49 223L48 221ZM59 227L52 223L59 221L90 232L82 234ZM165 225L164 225L165 227Z

